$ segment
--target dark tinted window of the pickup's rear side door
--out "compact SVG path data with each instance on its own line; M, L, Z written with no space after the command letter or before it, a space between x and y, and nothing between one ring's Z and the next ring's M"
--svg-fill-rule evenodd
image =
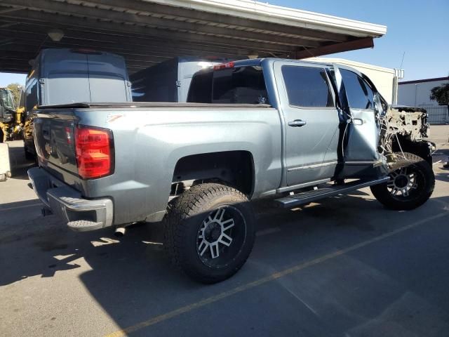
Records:
M326 72L322 68L284 65L288 103L298 107L333 107Z

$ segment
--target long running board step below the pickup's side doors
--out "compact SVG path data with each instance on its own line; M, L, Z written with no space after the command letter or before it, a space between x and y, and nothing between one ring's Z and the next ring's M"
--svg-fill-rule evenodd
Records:
M308 204L311 201L316 201L319 199L333 197L337 194L347 194L348 192L359 190L363 187L368 187L372 185L377 185L381 183L386 183L390 178L385 177L377 180L355 180L344 185L334 185L330 187L319 188L318 190L300 192L297 194L289 195L288 197L283 197L274 200L279 207L285 209L299 206L302 204Z

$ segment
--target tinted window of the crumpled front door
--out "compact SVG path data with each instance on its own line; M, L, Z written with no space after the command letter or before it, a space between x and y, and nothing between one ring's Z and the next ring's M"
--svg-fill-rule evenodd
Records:
M341 69L340 74L342 74L349 106L356 109L374 109L374 94L368 83L349 70Z

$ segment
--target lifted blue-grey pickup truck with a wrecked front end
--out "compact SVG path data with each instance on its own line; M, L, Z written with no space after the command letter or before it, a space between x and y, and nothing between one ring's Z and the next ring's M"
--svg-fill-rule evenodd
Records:
M196 73L188 100L39 107L28 174L44 211L79 231L163 220L173 262L213 283L253 248L253 199L291 208L370 186L408 210L434 190L426 112L389 107L349 67L229 62Z

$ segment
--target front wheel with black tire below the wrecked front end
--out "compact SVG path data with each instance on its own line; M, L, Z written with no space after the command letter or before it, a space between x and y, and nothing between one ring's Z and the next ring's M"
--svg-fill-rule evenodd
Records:
M388 209L407 211L426 202L435 187L435 176L427 161L415 154L397 153L399 160L387 183L371 186L374 197Z

